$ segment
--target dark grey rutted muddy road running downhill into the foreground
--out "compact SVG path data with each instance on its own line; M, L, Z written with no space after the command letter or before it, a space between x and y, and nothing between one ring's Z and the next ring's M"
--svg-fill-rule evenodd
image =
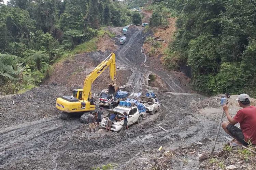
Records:
M91 169L108 163L118 164L117 169L152 169L160 146L165 150L194 146L194 153L185 155L188 164L181 161L173 169L197 167L197 154L211 150L218 119L194 112L194 105L207 97L189 93L171 72L147 66L151 61L142 46L148 35L141 27L131 28L126 43L116 44L116 63L131 98L145 93L145 88L155 89L160 101L158 113L146 115L128 131L91 134L79 117L61 120L55 109L56 98L71 94L71 87L52 83L22 95L1 97L0 169ZM100 62L110 52L91 52L83 57ZM157 74L169 92L148 86L149 72ZM101 89L93 90L97 93ZM217 149L222 140L225 138L219 138Z

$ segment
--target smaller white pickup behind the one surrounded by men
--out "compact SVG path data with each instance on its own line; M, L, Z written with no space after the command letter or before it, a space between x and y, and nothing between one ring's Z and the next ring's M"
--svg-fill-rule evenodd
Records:
M159 110L160 104L157 98L143 96L140 102L145 105L146 112L150 113L150 115L154 115Z

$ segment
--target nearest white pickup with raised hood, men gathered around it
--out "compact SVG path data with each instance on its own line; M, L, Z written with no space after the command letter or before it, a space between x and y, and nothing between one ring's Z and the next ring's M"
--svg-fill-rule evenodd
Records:
M127 125L130 126L133 123L140 123L145 115L145 108L142 110L139 110L138 107L136 105L133 106L122 106L122 105L118 105L117 107L115 107L114 109L106 109L106 111L109 114L113 114L116 113L116 116L118 119L121 119L122 117L124 117L124 112L128 113L128 123ZM125 130L126 127L124 126L124 120L113 120L113 124L111 126L111 130L114 132L119 132L122 130ZM101 126L102 128L106 128L106 125L108 123L108 119L103 118L101 121Z

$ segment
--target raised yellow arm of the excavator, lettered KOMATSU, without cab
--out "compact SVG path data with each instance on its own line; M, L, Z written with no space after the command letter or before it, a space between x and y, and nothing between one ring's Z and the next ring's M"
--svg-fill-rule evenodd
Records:
M91 86L95 79L107 68L109 67L111 81L114 80L116 75L116 63L115 54L111 53L104 61L102 61L93 71L87 75L84 80L82 100L89 100L89 95L91 91Z

